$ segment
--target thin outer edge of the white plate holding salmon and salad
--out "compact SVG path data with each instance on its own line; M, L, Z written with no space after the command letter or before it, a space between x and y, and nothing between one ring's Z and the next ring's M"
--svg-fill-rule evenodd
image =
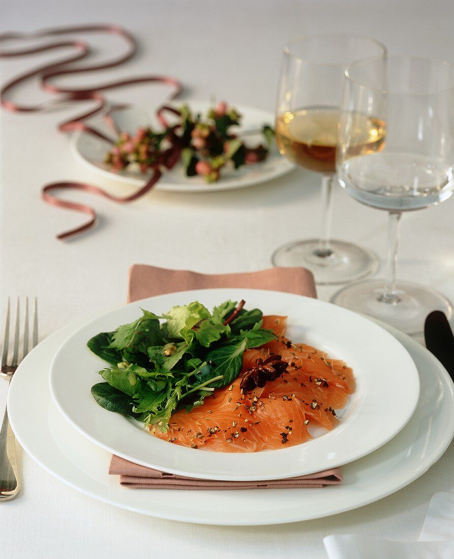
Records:
M198 289L198 290L185 290L185 291L179 291L179 292L172 292L172 293L165 293L162 295L157 295L157 296L152 296L152 297L146 297L145 299L141 299L138 301L133 301L129 304L126 305L121 305L121 306L117 306L114 309L111 309L110 311L107 311L105 313L102 313L100 315L97 315L96 318L94 318L91 321L88 321L86 324L84 324L81 328L79 328L77 331L75 331L72 335L70 335L68 337L67 340L65 340L65 342L61 345L61 347L59 348L58 352L56 352L54 359L51 363L51 367L50 367L50 373L49 373L49 387L50 387L50 393L51 393L51 397L53 398L53 401L56 405L56 407L58 408L60 414L62 414L64 416L64 418L73 426L73 428L77 429L79 431L79 433L81 433L84 437L88 438L89 440L91 440L91 442L93 442L94 444L96 444L97 446L105 449L108 452L111 452L112 454L116 454L117 456L120 456L122 458L125 458L129 461L132 461L134 463L138 463L142 466L145 467L153 467L153 468L157 468L159 470L164 470L164 471L168 471L169 473L175 473L177 475L184 475L184 476L189 476L189 477L196 477L196 478L200 478L200 479L212 479L212 480L219 480L219 479L223 479L223 480L227 480L227 481L259 481L259 480L263 480L263 479L270 479L271 477L273 477L274 479L285 479L285 478L289 478L289 477L294 477L294 476L299 476L299 475L308 475L309 473L313 473L316 471L320 471L323 470L323 467L320 467L320 465L313 465L310 468L307 468L306 466L306 470L304 469L299 469L299 470L291 470L290 473L285 472L282 473L280 475L276 475L275 470L271 469L266 473L262 473L261 476L258 476L257 474L254 475L254 473L252 473L253 470L253 463L254 461L260 461L261 459L258 456L263 456L263 454L261 452L259 453L229 453L233 456L235 456L236 458L230 458L227 457L225 458L225 453L215 453L215 452L210 452L211 458L210 459L212 462L214 462L215 464L217 462L225 462L225 461L236 461L238 463L238 466L231 466L231 469L228 472L225 473L220 473L221 470L218 469L216 471L214 471L214 473L212 473L213 470L203 470L203 473L200 472L201 470L201 466L199 465L200 462L202 461L202 455L198 456L192 456L192 454L188 454L189 452L194 453L196 451L193 451L192 449L188 449L185 447L176 447L176 446L172 446L168 447L167 449L163 449L164 452L164 460L166 461L165 465L161 462L159 463L158 461L155 463L152 463L150 461L150 459L145 459L145 458L141 458L139 456L137 456L136 454L133 455L133 453L131 453L131 451L126 452L123 449L121 449L121 451L119 452L118 449L113 448L113 446L111 446L110 444L106 443L105 440L100 440L100 438L98 438L98 436L93 435L92 433L90 433L89 431L87 431L86 429L84 429L83 427L81 427L81 425L78 424L77 418L73 419L72 416L70 416L67 413L67 410L65 409L65 407L60 403L59 401L59 397L56 394L56 390L55 390L55 385L58 386L58 381L59 381L59 377L58 377L58 373L55 372L55 362L58 362L58 358L60 357L60 355L62 354L62 348L64 348L65 346L67 346L68 344L70 344L70 341L73 338L77 338L77 335L81 334L81 332L93 325L94 323L96 323L96 321L99 320L106 320L106 318L108 319L108 317L112 314L115 314L116 312L121 312L124 311L124 309L126 309L126 307L140 307L141 305L148 305L150 301L154 301L157 299L180 299L183 297L186 297L187 299L189 299L190 297L192 297L192 295L190 295L191 293L198 293L198 299L202 300L202 293L205 292L209 292L209 293L216 293L216 292L221 292L224 295L222 295L222 297L226 297L226 291L228 291L230 293L230 296L232 297L237 297L240 296L240 293L242 293L244 295L244 293L246 291L254 291L258 294L258 297L261 296L261 294L263 294L264 292L266 292L268 294L268 296L272 296L272 295L280 295L280 296L284 296L284 299L302 299L302 300L306 300L308 303L310 303L311 305L316 305L316 306L323 306L323 307L328 307L331 309L335 309L336 312L340 312L340 314L343 315L349 315L351 317L354 317L354 319L358 319L360 318L361 320L367 321L368 323L370 323L371 325L376 326L377 328L379 328L380 330L384 331L386 334L389 334L388 331L386 331L386 329L381 328L380 325L377 325L376 323L374 323L374 321L370 321L368 320L367 317L362 316L362 315L358 315L356 312L350 311L348 309L344 309L343 307L339 307L337 305L333 305L332 303L326 302L326 301L321 301L319 299L314 299L312 297L306 297L306 296L301 296L301 295L296 295L295 293L288 293L288 292L282 292L282 291L276 291L276 290L260 290L260 289L242 289L242 288L207 288L207 289ZM240 293L238 293L240 292ZM214 297L215 295L213 295ZM172 302L173 304L177 304ZM127 312L127 311L125 311ZM121 322L121 319L120 319ZM391 338L393 338L393 340L395 342L397 342L397 344L400 346L399 350L403 350L403 352L406 354L405 358L408 358L408 367L413 368L413 371L410 371L412 374L414 374L417 378L417 382L414 383L415 386L412 386L412 389L415 389L415 394L413 394L414 399L413 399L413 405L408 408L408 413L405 416L405 419L402 421L402 423L400 424L398 429L394 429L392 430L392 433L388 433L388 435L382 439L380 439L380 441L377 443L373 443L370 444L369 446L365 446L363 447L363 450L360 452L356 452L356 453L350 453L348 455L348 457L344 457L342 459L337 459L337 461L333 460L333 462L329 462L327 463L326 467L329 468L333 468L333 467L339 467L344 465L345 463L351 462L353 460L356 459L360 459L363 456L366 456L367 454L370 454L371 452L376 451L378 448L380 448L381 446L383 446L384 444L386 444L387 442L389 442L392 438L394 438L404 427L405 425L408 423L408 421L412 418L415 409L417 408L418 405L418 401L419 401L419 393L420 393L420 382L419 382L419 374L418 374L418 370L417 367L415 366L415 363L412 359L412 357L410 356L409 352L405 349L405 347L403 346L403 344L401 344L398 340L396 340L394 337L392 337L391 334L389 334ZM409 370L410 370L409 369ZM58 391L58 388L57 388ZM99 411L99 410L97 410ZM366 412L367 413L367 412ZM124 420L124 418L121 418L122 420ZM115 420L113 420L115 421ZM113 424L113 423L112 423ZM127 429L126 424L122 424L125 425L125 430ZM122 428L121 425L121 428ZM351 423L350 423L351 425ZM357 424L358 425L358 424ZM357 428L356 425L356 428ZM348 428L348 423L347 423L347 428ZM354 429L354 428L353 428ZM341 431L340 433L342 433L343 431ZM330 437L333 437L334 435L332 435L333 432L329 432L326 433L326 435L330 435ZM339 434L340 434L339 433ZM140 435L138 435L139 437ZM323 437L320 437L323 438ZM342 437L341 437L342 439ZM138 439L137 439L138 440ZM315 442L316 439L314 439L312 442ZM325 443L323 442L318 442L316 443L317 446L324 446ZM303 447L300 448L299 447ZM159 447L158 447L159 448ZM162 447L163 448L163 447ZM285 456L282 453L286 453L287 456L287 462L289 461L289 459L291 460L292 458L297 458L298 457L298 453L303 452L306 455L309 454L309 450L306 450L306 448L308 447L304 447L304 445L295 445L294 447L290 447L290 448L286 448L286 449L278 449L274 450L274 451L264 451L264 452L270 452L273 453L274 456L276 456L276 453L279 452L278 456L275 458L275 460L277 462L282 462L285 461ZM197 451L200 452L200 451ZM206 452L206 451L205 451ZM205 454L204 452L204 454ZM326 452L326 451L325 451ZM213 456L216 455L216 456ZM249 456L249 458L248 458ZM189 457L187 458L188 461L190 462L195 462L196 465L193 466L192 470L188 470L185 468L188 468L188 465L186 464L185 467L175 467L173 466L173 464L177 464L179 463L179 459L181 459L182 457ZM173 459L172 459L173 458ZM310 458L306 458L309 460L310 462ZM203 461L202 461L203 462ZM249 466L249 470L242 470L241 465L243 462L247 462L248 466ZM170 465L169 465L170 463ZM293 466L294 468L297 467L297 462L295 462L295 465ZM212 466L214 467L214 466ZM218 468L220 468L220 466L217 466ZM271 466L269 466L271 467ZM326 469L326 468L325 468ZM224 472L224 470L222 470ZM269 472L273 472L273 473L269 473Z

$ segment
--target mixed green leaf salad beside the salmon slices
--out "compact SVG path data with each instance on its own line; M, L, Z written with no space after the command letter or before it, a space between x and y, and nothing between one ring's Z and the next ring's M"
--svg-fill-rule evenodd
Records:
M276 339L262 328L262 311L244 301L225 301L210 312L198 301L174 306L164 315L143 315L113 332L102 332L88 347L110 364L91 393L102 408L168 429L178 409L203 404L214 389L238 377L247 348Z

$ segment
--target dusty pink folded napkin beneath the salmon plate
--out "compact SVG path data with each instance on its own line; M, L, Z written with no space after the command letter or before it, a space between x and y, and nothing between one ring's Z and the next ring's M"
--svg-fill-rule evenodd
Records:
M163 293L210 287L267 289L316 297L313 275L305 268L269 268L258 272L213 275L134 264L129 271L127 300L131 302ZM109 473L120 476L121 485L153 489L290 489L342 483L339 468L285 480L217 481L153 470L119 456L112 456Z

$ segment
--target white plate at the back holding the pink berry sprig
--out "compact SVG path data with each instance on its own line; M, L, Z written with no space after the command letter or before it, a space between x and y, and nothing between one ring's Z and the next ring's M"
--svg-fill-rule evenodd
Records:
M178 107L176 103L174 106ZM189 102L188 105L194 112L205 113L209 108L209 103ZM242 115L240 127L232 127L232 132L244 138L248 145L254 146L264 143L260 131L264 124L273 126L274 116L268 111L262 111L253 107L235 106ZM120 127L120 130L134 132L138 127L152 125L158 126L154 110L147 110L141 107L134 107L113 113L113 117ZM97 130L104 132L109 137L112 130L107 126L103 116L95 116L90 121L90 125ZM110 144L86 132L75 132L72 138L72 150L75 157L84 165L87 165L97 173L116 182L130 186L143 186L149 174L141 174L131 170L114 172L109 165L104 163L106 152ZM202 177L186 177L181 164L177 164L173 169L166 171L154 188L157 190L167 190L174 192L215 192L220 190L230 190L232 188L244 188L261 182L271 181L281 177L295 168L285 157L279 153L276 145L269 151L267 159L262 163L254 165L243 165L235 170L226 166L221 171L219 181L207 184Z

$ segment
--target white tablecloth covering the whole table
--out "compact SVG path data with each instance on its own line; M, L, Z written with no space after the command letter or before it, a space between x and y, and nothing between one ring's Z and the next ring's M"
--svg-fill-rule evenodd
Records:
M3 31L51 25L118 22L140 40L127 67L65 83L95 83L126 75L169 73L187 86L185 99L215 96L273 110L280 52L290 37L338 31L372 35L390 53L454 60L454 4L395 0L7 0ZM101 45L97 39L96 44ZM98 55L119 51L119 39ZM2 61L2 80L31 61ZM167 88L138 86L112 100L159 103ZM21 99L42 94L21 88ZM80 107L79 107L80 109ZM77 112L77 109L76 109ZM88 180L119 191L81 167L69 139L55 131L74 108L46 115L1 114L1 309L6 295L37 295L41 335L92 312L122 304L130 264L150 263L201 272L248 271L269 265L281 243L316 236L319 178L297 170L275 182L241 191L182 195L152 192L130 205L70 193L96 206L96 231L67 243L54 235L83 216L46 206L40 188L61 179ZM120 190L122 188L120 187ZM68 196L68 195L67 195ZM403 220L399 276L417 280L454 300L454 198ZM384 258L386 215L361 206L340 188L334 235L376 250ZM322 299L334 290L319 289ZM33 418L30 418L32 421ZM324 520L264 528L204 527L141 517L112 508L65 486L21 456L23 490L0 505L1 557L311 557L326 558L330 533L416 538L435 491L454 490L454 447L422 478L360 510Z

